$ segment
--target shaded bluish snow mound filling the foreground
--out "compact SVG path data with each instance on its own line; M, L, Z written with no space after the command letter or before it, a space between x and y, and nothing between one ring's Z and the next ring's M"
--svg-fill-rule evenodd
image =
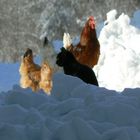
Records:
M140 140L140 89L113 90L54 75L52 94L0 93L0 140Z

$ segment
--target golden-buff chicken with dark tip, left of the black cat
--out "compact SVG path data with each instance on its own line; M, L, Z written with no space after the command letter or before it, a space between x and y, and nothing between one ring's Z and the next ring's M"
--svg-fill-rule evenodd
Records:
M31 88L33 91L43 89L45 93L50 95L53 70L47 62L43 62L41 66L35 64L31 49L27 49L25 52L19 72L21 75L20 86L22 88Z

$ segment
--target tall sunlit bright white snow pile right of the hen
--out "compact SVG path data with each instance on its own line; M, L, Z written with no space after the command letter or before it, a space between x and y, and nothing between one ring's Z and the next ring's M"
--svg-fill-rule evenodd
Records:
M134 15L132 23L140 25ZM105 26L100 32L101 55L95 68L100 86L122 91L140 87L140 30L130 24L130 18L117 11L107 13Z

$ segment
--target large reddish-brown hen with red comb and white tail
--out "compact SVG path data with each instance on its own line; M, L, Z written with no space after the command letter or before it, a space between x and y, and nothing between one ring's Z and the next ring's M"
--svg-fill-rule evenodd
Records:
M82 30L80 42L76 46L72 45L68 33L64 33L63 45L75 56L79 63L93 68L98 63L100 55L100 44L96 35L94 18L89 17Z

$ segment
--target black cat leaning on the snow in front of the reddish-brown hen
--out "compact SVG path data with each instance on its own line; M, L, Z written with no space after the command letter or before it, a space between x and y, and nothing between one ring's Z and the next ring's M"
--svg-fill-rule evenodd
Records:
M65 74L78 77L87 84L99 86L94 71L88 66L80 64L74 55L64 47L57 55L56 64L63 68Z

